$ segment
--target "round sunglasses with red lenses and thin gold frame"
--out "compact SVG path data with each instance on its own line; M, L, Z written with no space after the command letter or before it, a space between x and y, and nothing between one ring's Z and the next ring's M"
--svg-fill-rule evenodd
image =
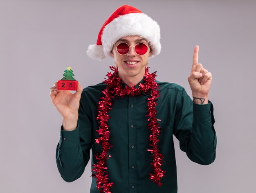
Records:
M134 50L137 55L144 55L147 53L149 49L149 47L146 44L141 42L136 44L135 46L129 46L129 44L127 44L126 42L122 42L118 44L115 48L117 50L117 53L119 53L120 55L126 55L130 51L131 47L134 47Z

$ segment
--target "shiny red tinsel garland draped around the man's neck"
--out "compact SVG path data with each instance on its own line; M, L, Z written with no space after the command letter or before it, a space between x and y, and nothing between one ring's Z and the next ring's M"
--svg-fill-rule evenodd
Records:
M147 103L148 103L148 129L150 130L150 146L151 149L148 149L152 153L152 173L149 173L149 178L157 183L159 186L162 186L161 180L164 177L165 171L161 170L161 162L164 156L159 153L157 148L157 142L159 141L158 136L160 133L159 123L161 121L156 118L157 111L155 106L157 105L157 97L159 97L160 91L157 83L155 82L156 72L150 74L148 72L148 67L145 68L144 83L139 83L139 88L123 86L123 81L118 76L118 70L115 67L110 66L110 69L114 72L108 72L108 79L105 79L103 82L107 84L106 89L102 92L104 96L100 98L98 106L98 116L97 120L99 121L99 130L96 132L99 134L99 138L95 139L96 143L101 143L101 152L95 154L97 163L92 165L94 168L92 171L92 177L96 178L97 188L100 190L100 193L111 193L113 182L108 182L108 171L106 167L107 158L111 156L108 155L108 150L112 147L108 142L110 137L108 119L110 116L108 112L112 109L113 98L122 98L124 96L140 96L142 92L149 94Z

